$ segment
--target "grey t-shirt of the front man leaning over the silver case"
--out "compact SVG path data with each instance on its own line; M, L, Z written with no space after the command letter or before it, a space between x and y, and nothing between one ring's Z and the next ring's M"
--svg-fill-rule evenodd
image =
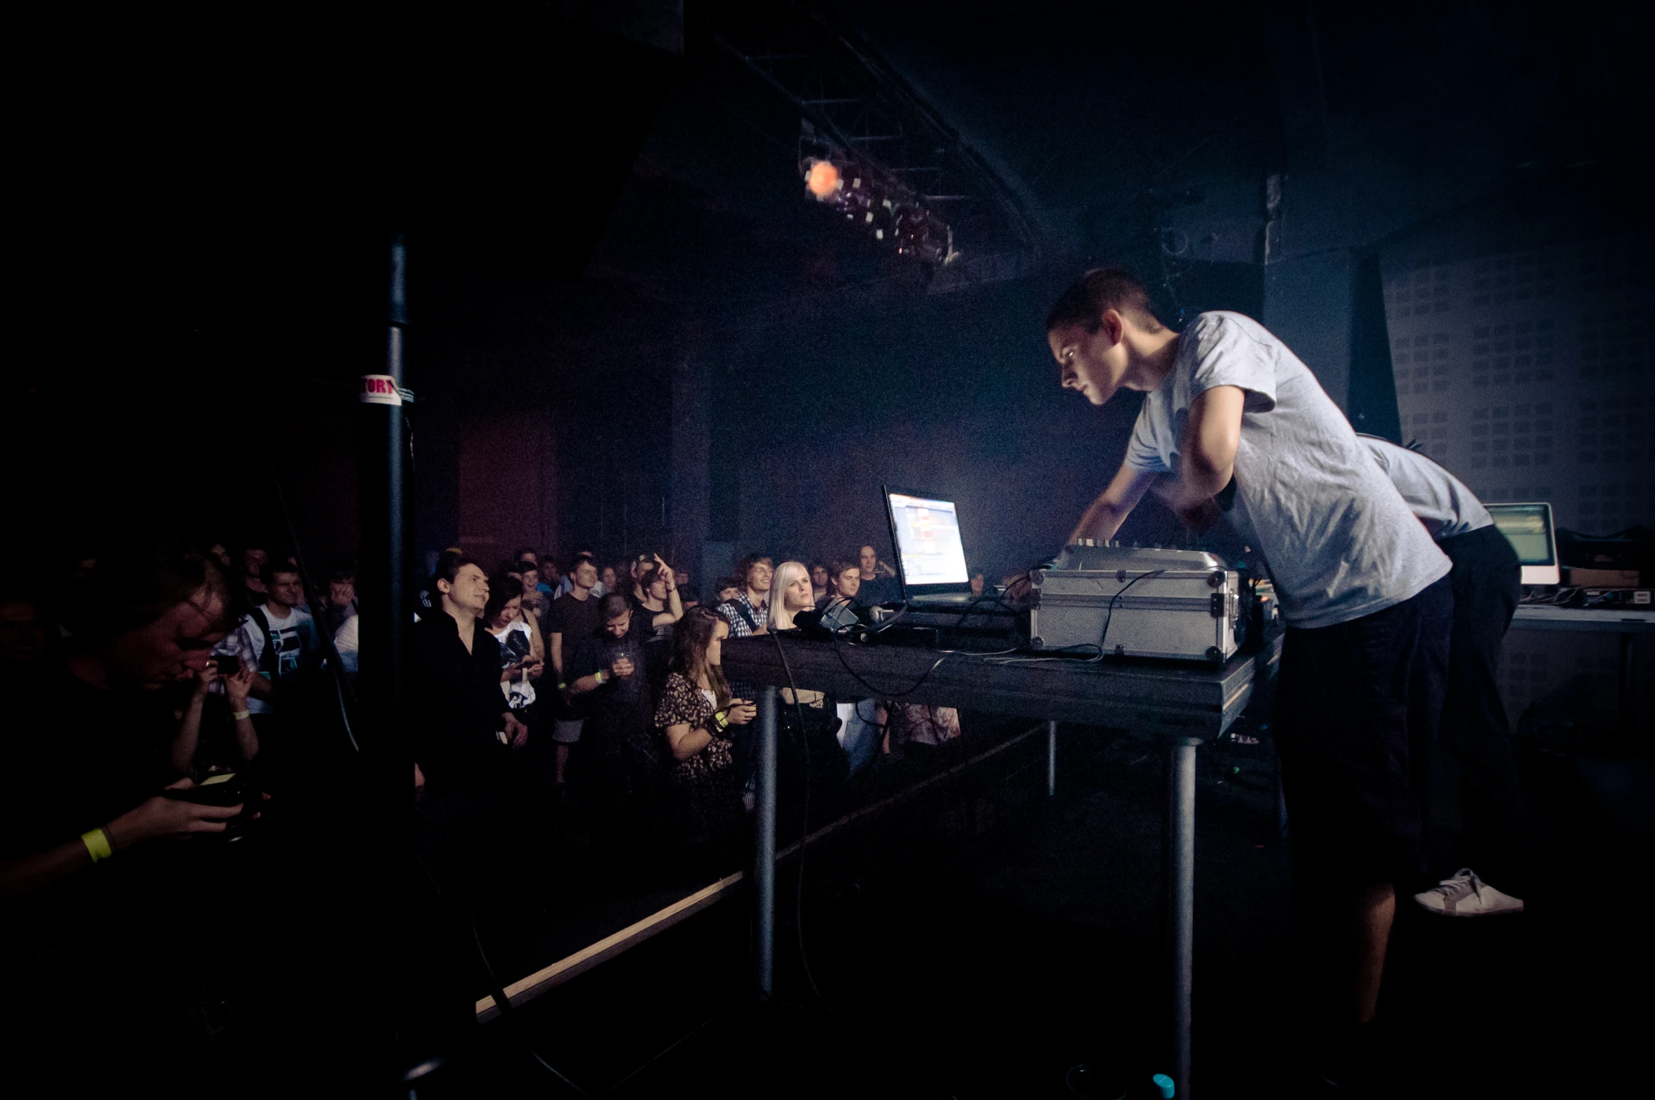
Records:
M1289 625L1372 615L1448 576L1451 562L1316 375L1238 313L1203 313L1183 332L1173 369L1139 412L1125 465L1175 473L1190 402L1218 385L1246 395L1230 519L1264 557Z

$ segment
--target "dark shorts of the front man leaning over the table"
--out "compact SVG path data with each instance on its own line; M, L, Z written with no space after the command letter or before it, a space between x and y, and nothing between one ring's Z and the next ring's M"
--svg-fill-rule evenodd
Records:
M1329 885L1425 875L1425 763L1448 683L1453 586L1334 627L1288 629L1276 744L1294 873Z

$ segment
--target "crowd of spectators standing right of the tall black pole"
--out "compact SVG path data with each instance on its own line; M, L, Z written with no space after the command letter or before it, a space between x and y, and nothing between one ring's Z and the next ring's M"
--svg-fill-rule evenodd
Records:
M722 643L796 629L834 604L899 599L872 546L804 564L748 554L707 597L660 554L561 566L520 551L485 571L462 549L420 594L410 677L415 791L460 849L574 832L616 850L740 834L753 809L756 688L730 680ZM354 648L351 622L334 645ZM781 691L783 789L832 806L879 756L960 734L950 708Z

